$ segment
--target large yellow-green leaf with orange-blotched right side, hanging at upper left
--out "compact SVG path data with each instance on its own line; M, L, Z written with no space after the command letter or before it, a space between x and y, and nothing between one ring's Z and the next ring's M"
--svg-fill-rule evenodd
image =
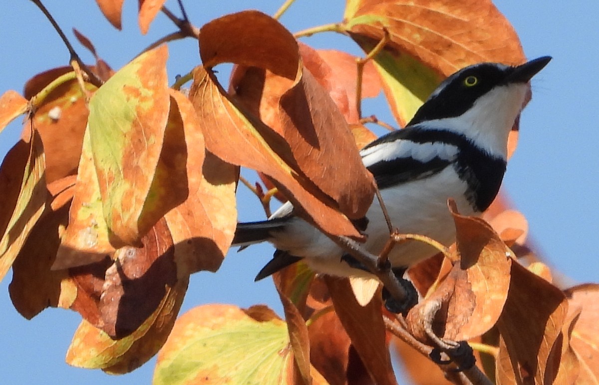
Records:
M115 246L135 245L164 216L144 210L167 126L166 46L141 54L96 91L89 134L104 218Z

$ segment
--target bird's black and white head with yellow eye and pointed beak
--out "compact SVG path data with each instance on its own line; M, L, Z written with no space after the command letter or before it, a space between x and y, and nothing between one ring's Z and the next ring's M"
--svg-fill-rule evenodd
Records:
M507 136L524 107L529 81L549 60L543 56L519 66L479 63L461 69L433 91L408 126L451 130L506 158Z

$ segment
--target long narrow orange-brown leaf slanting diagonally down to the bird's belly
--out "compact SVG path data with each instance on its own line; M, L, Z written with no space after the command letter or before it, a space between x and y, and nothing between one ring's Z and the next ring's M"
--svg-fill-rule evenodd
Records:
M340 216L337 204L292 169L289 157L289 161L282 158L287 153L277 153L288 147L283 138L259 121L250 123L217 85L213 74L201 67L195 69L190 99L202 123L208 151L228 163L259 170L276 179L277 187L285 191L295 207L303 207L323 230L359 236L351 222Z

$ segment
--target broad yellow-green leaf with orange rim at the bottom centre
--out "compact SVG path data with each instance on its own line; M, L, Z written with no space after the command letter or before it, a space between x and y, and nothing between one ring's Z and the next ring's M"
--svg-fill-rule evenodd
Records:
M293 383L285 322L253 310L214 304L183 314L158 355L153 384Z

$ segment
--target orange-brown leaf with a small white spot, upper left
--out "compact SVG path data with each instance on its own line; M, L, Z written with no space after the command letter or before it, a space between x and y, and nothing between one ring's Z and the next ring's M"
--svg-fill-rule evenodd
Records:
M61 67L35 75L25 84L25 97L31 99L50 82L71 71L71 67ZM89 91L96 89L87 83L86 87ZM77 173L88 115L85 95L75 79L52 90L36 109L33 126L44 143L48 184ZM31 121L27 121L23 135L30 129Z

